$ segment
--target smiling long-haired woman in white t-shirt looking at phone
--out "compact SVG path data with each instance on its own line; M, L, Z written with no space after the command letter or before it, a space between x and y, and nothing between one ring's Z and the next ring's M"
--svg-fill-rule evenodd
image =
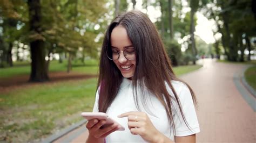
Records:
M150 19L140 11L117 16L105 34L93 112L106 112L125 131L92 119L86 142L196 142L194 103Z

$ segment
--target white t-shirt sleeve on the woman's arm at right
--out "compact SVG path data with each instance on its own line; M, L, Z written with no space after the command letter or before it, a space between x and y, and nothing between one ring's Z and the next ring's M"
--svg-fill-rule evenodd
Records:
M193 103L190 90L185 84L183 84L180 88L181 90L177 92L177 94L178 94L179 101L181 104L181 109L183 110L183 115L187 121L187 124L185 123L183 117L181 116L180 110L178 108L178 104L175 103L174 104L175 112L173 113L173 121L176 127L176 132L174 132L174 135L177 137L183 137L183 136L200 132L197 114L194 108L194 103Z

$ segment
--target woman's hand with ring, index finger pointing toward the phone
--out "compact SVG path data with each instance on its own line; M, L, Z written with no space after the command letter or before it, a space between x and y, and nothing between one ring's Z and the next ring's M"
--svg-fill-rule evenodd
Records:
M118 116L128 118L128 127L132 134L139 134L145 141L166 142L170 141L164 134L160 133L152 124L144 112L126 112Z

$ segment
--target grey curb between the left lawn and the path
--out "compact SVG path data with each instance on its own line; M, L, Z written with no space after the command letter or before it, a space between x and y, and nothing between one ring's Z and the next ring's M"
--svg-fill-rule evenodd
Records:
M75 130L76 128L82 126L83 124L86 123L87 120L81 120L76 124L70 125L69 127L64 128L63 130L61 130L60 132L51 135L48 138L43 139L41 142L42 143L48 143L48 142L53 142L61 137L63 137L64 135L68 134L69 132Z

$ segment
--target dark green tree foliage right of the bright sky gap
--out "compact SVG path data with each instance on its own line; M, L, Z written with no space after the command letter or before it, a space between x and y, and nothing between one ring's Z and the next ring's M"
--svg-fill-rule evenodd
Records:
M218 31L222 34L221 44L227 59L230 61L244 61L244 51L252 49L242 42L245 37L251 39L256 36L256 21L253 18L252 2L241 1L213 1L205 7L208 19L214 19ZM241 54L238 54L240 51Z

